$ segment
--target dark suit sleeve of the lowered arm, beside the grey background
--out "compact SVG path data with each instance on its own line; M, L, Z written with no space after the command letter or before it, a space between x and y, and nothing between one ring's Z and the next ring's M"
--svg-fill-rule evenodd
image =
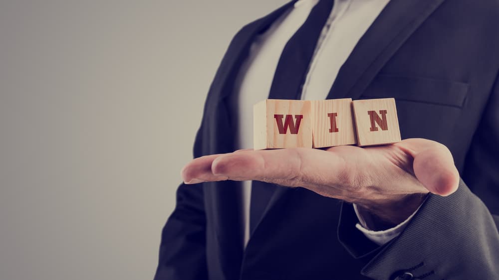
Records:
M201 131L196 136L195 155L199 154ZM175 210L162 231L154 280L203 280L207 274L203 188L181 184Z

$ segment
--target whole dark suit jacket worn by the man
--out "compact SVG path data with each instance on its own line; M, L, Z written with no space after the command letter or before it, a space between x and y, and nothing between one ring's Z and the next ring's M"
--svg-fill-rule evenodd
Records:
M210 87L194 156L234 150L229 97L252 39L292 2L240 30ZM278 188L243 251L240 183L180 185L156 280L499 279L499 1L392 0L362 36L329 98L394 97L402 138L439 141L462 181L429 195L382 247L352 206ZM248 104L252 106L252 104ZM491 215L492 213L492 215Z

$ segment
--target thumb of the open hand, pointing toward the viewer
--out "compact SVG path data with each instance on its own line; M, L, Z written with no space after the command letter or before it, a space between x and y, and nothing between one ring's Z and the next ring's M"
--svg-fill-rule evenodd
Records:
M447 196L458 189L459 172L445 145L426 139L408 139L399 144L414 157L414 174L430 192Z

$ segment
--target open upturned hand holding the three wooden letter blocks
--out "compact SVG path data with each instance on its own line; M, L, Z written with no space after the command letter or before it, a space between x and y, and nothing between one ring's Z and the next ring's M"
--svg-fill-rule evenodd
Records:
M189 162L182 176L186 184L259 180L304 187L356 203L391 224L414 212L428 192L447 196L459 184L449 149L426 139L365 148L249 149L213 154Z

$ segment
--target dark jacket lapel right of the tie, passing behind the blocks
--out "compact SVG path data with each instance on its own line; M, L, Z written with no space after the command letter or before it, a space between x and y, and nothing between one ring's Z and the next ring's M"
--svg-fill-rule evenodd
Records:
M341 67L327 99L359 98L390 57L443 1L390 1ZM287 191L286 187L277 188L262 220Z

